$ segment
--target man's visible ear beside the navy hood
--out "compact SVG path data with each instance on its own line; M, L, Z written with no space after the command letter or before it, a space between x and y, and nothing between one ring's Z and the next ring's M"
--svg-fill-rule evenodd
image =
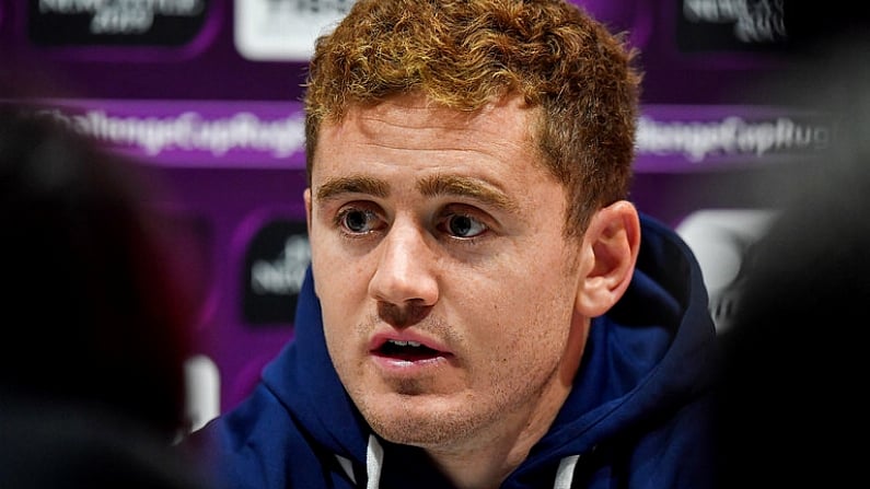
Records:
M635 271L640 249L640 218L627 200L600 209L583 235L588 270L577 294L577 311L595 317L623 296Z

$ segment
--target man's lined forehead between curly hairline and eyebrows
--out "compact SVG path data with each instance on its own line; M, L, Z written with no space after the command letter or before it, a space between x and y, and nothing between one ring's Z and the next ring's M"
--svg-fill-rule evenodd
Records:
M322 125L313 155L313 176L355 163L451 166L540 161L533 127L537 109L507 97L476 110L459 110L419 95L390 97L376 105L355 104L337 121ZM332 167L332 168L330 168ZM519 170L519 168L513 168Z

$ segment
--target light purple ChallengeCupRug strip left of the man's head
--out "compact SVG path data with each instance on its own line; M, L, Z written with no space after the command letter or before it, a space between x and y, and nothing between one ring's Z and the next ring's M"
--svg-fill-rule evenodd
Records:
M298 102L43 101L37 112L160 165L305 167Z

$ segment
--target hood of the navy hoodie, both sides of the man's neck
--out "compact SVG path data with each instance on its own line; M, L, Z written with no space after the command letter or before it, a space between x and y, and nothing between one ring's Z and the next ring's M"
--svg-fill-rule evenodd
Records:
M707 306L700 268L687 245L641 214L631 283L614 308L593 318L570 397L510 479L550 470L554 461L587 453L658 414L666 417L706 391L716 336ZM366 467L383 456L329 360L311 268L299 295L295 338L266 366L263 384L305 427L308 438L339 459Z

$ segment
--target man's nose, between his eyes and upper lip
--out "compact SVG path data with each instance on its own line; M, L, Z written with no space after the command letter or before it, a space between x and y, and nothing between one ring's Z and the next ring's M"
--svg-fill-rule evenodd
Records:
M378 269L369 294L380 302L429 306L438 301L437 255L426 231L395 221L380 243Z

